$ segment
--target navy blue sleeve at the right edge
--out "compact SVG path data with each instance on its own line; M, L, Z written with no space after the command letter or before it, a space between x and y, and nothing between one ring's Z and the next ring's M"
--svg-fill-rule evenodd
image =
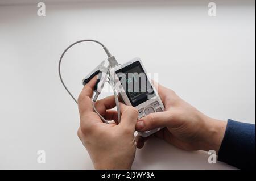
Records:
M228 120L218 161L238 169L255 169L255 124Z

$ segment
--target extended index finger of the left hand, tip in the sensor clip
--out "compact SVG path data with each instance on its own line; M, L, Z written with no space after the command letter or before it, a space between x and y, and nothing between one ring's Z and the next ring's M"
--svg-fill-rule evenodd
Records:
M82 89L79 98L78 98L78 106L80 115L86 111L93 111L92 106L92 95L93 95L93 87L97 81L97 76L93 77Z

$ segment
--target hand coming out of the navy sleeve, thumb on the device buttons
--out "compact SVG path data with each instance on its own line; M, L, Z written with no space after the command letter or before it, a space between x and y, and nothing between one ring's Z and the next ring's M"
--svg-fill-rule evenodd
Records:
M154 83L156 85L156 83ZM149 137L136 137L137 148L151 137L162 138L184 150L215 150L218 153L226 129L226 121L212 119L191 106L174 91L158 84L158 94L166 108L137 121L137 131L164 127Z

